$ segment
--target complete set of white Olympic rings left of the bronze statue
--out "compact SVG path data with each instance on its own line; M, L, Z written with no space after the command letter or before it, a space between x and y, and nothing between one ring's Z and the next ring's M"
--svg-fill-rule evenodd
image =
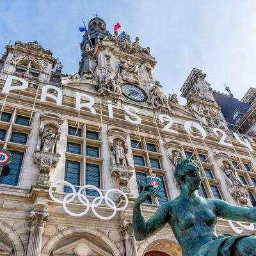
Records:
M63 200L59 200L59 199L57 199L56 197L54 197L52 195L52 188L54 188L54 186L56 186L56 184L59 184L59 183L63 183L66 186L69 186L72 189L72 193L68 193L63 198ZM97 193L99 193L99 196L93 198L92 204L90 204L86 195L84 195L82 193L82 191L84 189L93 189L93 190L97 191ZM121 194L122 196L124 196L125 205L123 207L120 207L120 208L116 207L115 202L111 198L108 197L109 193L118 193L118 194ZM65 210L65 212L67 212L67 214L69 214L71 216L74 216L74 217L83 216L90 210L90 208L92 208L92 212L97 218L99 218L101 220L110 220L111 218L113 218L115 216L116 211L123 211L128 205L127 195L125 195L125 193L123 191L119 190L119 189L115 189L115 188L109 189L108 191L106 191L105 195L103 195L102 191L99 188L97 188L93 185L84 185L81 188L79 188L78 192L76 192L75 187L70 182L67 182L65 180L61 180L61 181L57 181L57 182L52 183L51 186L50 186L50 189L49 189L49 195L51 196L51 199L54 202L57 202L58 204L63 205L63 209ZM71 212L70 210L68 210L67 204L70 204L76 198L76 196L77 196L79 202L86 207L86 209L83 212L74 213L74 212ZM95 210L96 207L99 207L99 205L102 204L103 200L106 203L106 205L108 205L108 207L113 210L113 214L111 214L110 216L101 216Z

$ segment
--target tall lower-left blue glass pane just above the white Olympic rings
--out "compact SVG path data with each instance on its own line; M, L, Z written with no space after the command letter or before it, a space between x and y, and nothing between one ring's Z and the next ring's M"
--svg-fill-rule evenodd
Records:
M66 161L65 180L74 186L80 186L80 163L76 161ZM78 191L78 187L75 187ZM70 193L72 189L69 186L64 186L64 192Z

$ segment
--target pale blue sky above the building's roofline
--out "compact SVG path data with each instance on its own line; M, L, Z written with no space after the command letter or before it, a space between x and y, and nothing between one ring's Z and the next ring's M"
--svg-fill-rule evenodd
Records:
M207 74L215 90L225 92L227 83L238 99L255 87L254 0L1 0L0 52L9 40L37 40L60 56L64 73L74 74L81 59L78 28L95 10L109 32L120 22L132 40L138 36L141 46L151 48L166 95L180 95L193 67Z

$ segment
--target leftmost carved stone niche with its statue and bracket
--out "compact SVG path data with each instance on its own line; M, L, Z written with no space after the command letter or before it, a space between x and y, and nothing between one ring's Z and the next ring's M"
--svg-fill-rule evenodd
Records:
M60 160L57 154L57 141L60 140L63 118L51 113L43 113L40 118L40 137L38 139L37 150L34 152L34 161L39 167L39 177L37 184L49 186L50 170L55 168Z

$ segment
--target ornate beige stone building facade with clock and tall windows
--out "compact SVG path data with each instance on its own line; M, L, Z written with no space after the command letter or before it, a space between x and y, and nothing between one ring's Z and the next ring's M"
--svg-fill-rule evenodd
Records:
M143 204L146 218L164 198L179 195L173 170L184 157L200 167L201 196L256 205L255 134L228 129L223 106L201 70L193 68L182 86L182 106L177 95L164 95L154 75L156 60L138 37L132 42L129 35L112 36L98 17L88 30L91 42L83 36L76 74L61 74L61 63L38 42L7 45L0 61L0 147L13 157L0 170L0 255L179 256L170 227L135 241L132 205L141 191L136 180L155 174L163 182L161 197ZM10 77L17 88L5 91ZM24 80L28 87L20 90ZM252 93L243 101L255 106ZM250 120L245 123L249 131ZM99 220L91 209L70 216L49 196L49 186L59 180L77 189L120 189L129 204L110 220ZM55 187L59 200L72 196L67 184ZM86 189L83 196L92 202L99 192ZM109 204L124 205L122 196L109 198L95 207L98 214L111 215ZM85 206L75 199L67 207L77 214ZM237 227L218 220L216 232L255 232Z

